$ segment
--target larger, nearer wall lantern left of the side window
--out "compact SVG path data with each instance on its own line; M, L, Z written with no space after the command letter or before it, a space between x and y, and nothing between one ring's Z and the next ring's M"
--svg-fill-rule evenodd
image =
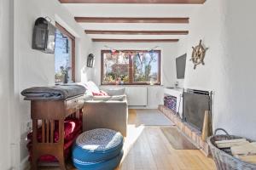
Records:
M55 53L55 26L46 18L36 20L32 36L32 48L44 53Z

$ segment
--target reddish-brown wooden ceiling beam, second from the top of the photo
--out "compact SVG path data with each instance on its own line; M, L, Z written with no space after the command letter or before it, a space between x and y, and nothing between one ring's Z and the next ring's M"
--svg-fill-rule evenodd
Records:
M187 18L124 18L124 17L75 17L77 22L86 23L172 23L188 24Z

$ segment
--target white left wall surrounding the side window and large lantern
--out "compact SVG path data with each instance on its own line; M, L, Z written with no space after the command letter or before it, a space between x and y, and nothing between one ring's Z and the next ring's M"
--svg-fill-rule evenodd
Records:
M26 161L26 123L30 122L30 102L24 101L20 92L32 86L47 86L55 83L55 56L32 49L32 29L38 17L48 16L59 22L76 37L76 79L90 78L90 71L84 69L90 38L68 13L67 9L55 0L15 0L15 162L17 169L20 161ZM21 165L22 166L22 165Z

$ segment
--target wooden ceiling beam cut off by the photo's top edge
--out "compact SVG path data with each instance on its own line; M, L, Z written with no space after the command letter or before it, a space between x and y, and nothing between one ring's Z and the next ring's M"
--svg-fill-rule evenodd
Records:
M162 3L202 4L206 0L59 0L61 3Z

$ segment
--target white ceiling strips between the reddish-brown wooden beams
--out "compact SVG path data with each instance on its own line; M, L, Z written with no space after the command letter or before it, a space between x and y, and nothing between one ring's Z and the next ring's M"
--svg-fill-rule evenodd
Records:
M190 17L201 4L99 4L63 3L74 17ZM79 23L84 30L112 31L189 31L189 24L166 23ZM106 35L90 34L91 38L114 39L178 39L183 35Z

